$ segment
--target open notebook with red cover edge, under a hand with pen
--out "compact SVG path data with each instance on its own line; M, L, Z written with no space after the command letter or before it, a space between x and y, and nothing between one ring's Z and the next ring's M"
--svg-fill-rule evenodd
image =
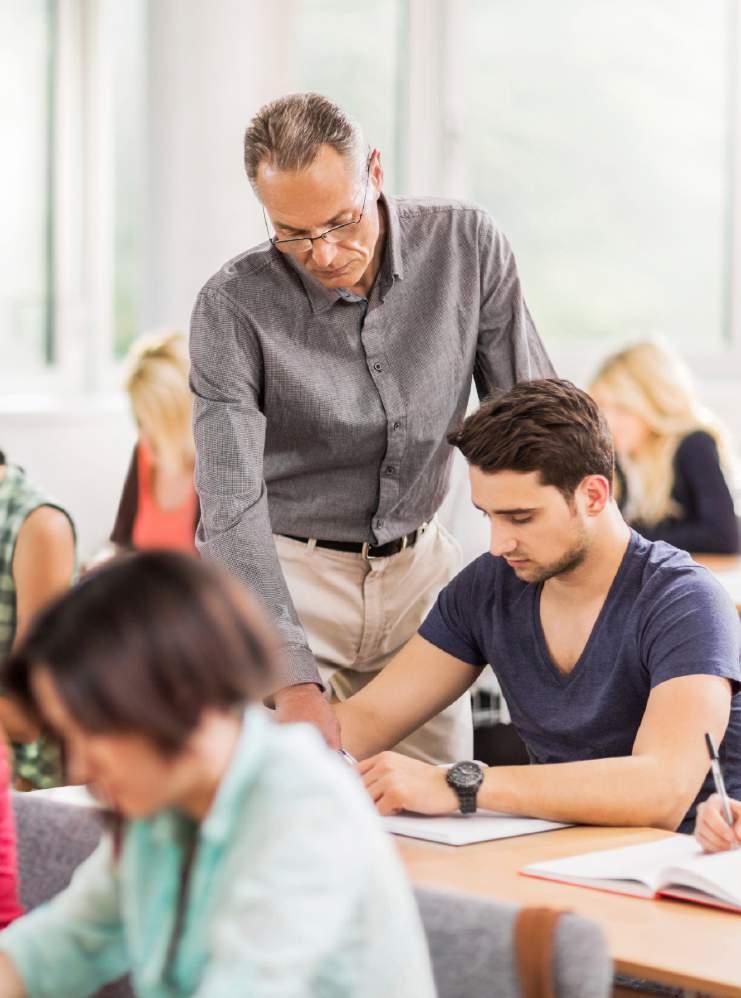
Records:
M709 855L691 835L533 863L520 872L634 897L681 898L741 912L741 849Z

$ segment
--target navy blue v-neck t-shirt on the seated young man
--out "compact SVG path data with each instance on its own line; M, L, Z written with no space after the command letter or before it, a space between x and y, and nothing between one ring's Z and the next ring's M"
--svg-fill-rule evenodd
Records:
M569 673L548 652L542 589L484 554L443 589L419 633L463 662L491 665L534 763L630 755L655 686L678 676L726 677L733 701L720 758L729 794L741 798L741 624L710 572L631 531ZM712 792L708 775L680 830L692 830L697 804Z

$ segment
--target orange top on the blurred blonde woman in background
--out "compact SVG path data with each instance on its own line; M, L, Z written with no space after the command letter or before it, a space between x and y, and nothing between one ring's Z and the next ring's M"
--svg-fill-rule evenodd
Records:
M194 551L193 524L198 509L198 497L191 486L185 502L174 509L162 509L154 496L154 462L149 448L139 442L137 447L137 479L139 486L136 519L131 540L135 548L170 548Z

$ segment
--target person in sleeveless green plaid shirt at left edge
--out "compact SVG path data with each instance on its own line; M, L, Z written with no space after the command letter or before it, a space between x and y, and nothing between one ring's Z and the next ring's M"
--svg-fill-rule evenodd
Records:
M0 453L0 661L22 637L34 615L67 589L76 568L75 527L67 510ZM0 726L13 743L18 789L57 786L59 751L4 696Z

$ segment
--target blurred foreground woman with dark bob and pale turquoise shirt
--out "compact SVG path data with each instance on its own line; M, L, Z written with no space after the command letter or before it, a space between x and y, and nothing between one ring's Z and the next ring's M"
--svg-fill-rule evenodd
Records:
M3 998L82 998L127 971L140 998L433 998L359 781L260 703L276 648L239 584L182 552L113 559L37 618L0 681L114 817L69 887L0 934Z

